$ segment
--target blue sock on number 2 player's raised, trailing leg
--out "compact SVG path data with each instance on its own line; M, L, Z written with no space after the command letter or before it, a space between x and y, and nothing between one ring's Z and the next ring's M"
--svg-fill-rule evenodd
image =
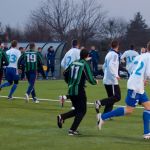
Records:
M125 110L123 107L119 107L111 112L108 112L108 113L105 113L105 114L102 114L102 120L107 120L109 118L112 118L112 117L119 117L119 116L124 116L125 115Z

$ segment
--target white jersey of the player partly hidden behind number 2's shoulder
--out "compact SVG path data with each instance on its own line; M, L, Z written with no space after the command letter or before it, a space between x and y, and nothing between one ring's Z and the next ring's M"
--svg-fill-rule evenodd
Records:
M121 56L121 61L124 61L124 59L126 59L126 69L129 72L129 74L131 74L130 67L132 65L132 62L134 58L138 55L138 52L136 52L135 50L127 50Z

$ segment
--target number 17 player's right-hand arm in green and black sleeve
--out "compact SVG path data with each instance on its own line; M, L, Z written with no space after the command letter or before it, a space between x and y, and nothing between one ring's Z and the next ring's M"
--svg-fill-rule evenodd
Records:
M90 84L93 84L93 85L97 84L97 81L93 77L91 68L87 63L85 63L85 66L84 66L84 73L85 73L86 79L88 80Z

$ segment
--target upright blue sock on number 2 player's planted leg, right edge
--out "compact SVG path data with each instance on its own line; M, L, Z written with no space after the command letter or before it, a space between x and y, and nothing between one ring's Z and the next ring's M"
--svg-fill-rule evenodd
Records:
M150 133L150 110L143 112L144 134Z

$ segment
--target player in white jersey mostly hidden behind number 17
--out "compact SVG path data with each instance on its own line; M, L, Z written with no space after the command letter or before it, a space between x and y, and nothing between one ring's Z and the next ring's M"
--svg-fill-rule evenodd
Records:
M77 40L72 40L72 48L65 54L64 58L62 59L61 67L65 70L72 62L79 59L80 59L79 43ZM60 103L62 103L62 106L66 99L69 99L68 95L59 96L59 100ZM72 107L72 109L74 108Z

